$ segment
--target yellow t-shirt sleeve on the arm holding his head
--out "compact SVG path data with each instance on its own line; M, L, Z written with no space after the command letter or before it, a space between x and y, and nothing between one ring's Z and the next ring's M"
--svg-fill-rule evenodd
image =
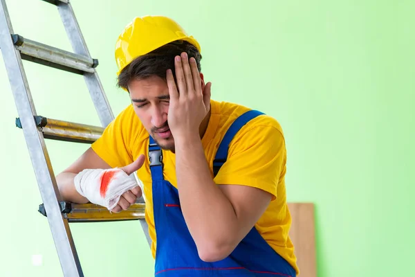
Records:
M251 127L234 137L227 161L214 178L219 185L244 185L265 190L277 199L284 176L286 148L282 131L275 126Z

